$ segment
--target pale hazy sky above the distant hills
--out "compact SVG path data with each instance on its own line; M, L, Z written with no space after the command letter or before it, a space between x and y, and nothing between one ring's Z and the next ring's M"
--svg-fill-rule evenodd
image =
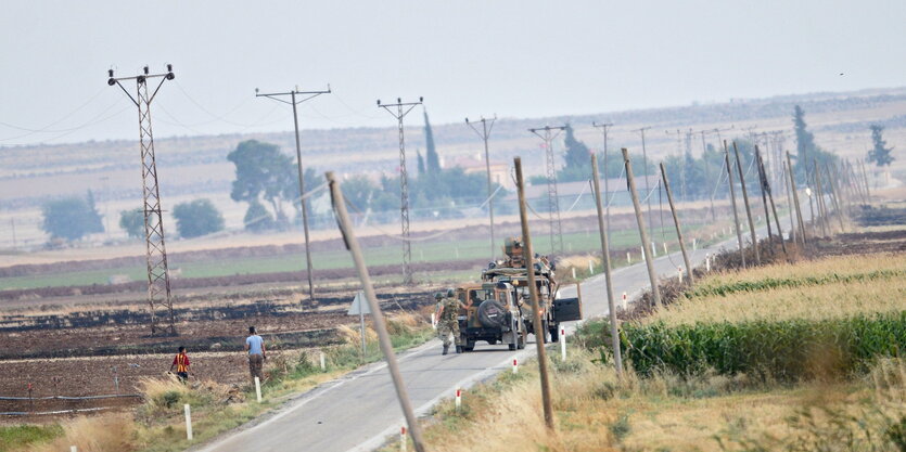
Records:
M254 89L295 85L335 92L304 128L392 126L377 99L448 122L898 87L904 24L904 0L4 0L0 145L137 138L110 67L174 64L159 137L290 130Z

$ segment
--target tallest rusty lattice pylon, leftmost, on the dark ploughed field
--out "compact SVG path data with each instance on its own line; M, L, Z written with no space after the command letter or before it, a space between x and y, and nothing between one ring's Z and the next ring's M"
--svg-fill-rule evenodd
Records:
M157 320L157 310L166 310L163 315L168 320L167 333L176 335L176 318L170 298L170 277L167 268L167 248L164 243L164 219L161 210L161 192L157 188L157 163L154 158L154 134L151 130L151 102L165 80L173 80L173 65L167 65L164 74L149 74L144 66L143 74L135 77L115 78L113 69L107 72L107 85L119 86L129 100L139 108L139 145L141 147L141 180L144 211L145 261L148 263L148 304L151 307L151 335L163 331ZM148 81L159 78L161 82L151 95L148 94ZM136 80L136 96L120 83L123 80Z

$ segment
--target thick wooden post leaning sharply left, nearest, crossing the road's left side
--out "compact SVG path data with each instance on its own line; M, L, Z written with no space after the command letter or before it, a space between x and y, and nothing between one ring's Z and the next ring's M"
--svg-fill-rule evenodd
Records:
M381 351L387 361L387 369L390 370L393 385L396 388L396 397L399 399L399 405L403 409L403 414L406 416L406 423L409 425L409 435L412 436L412 443L417 452L424 452L424 443L422 442L422 430L419 425L419 419L412 410L412 403L409 401L409 393L406 391L406 384L403 382L403 375L399 373L399 364L396 362L396 354L393 351L393 344L391 344L390 333L387 333L387 325L384 321L384 314L381 312L381 306L378 305L378 297L374 294L374 286L371 284L371 277L368 275L368 268L365 266L365 259L361 255L358 238L353 231L353 223L349 221L349 214L346 211L346 203L343 199L343 191L340 190L340 183L330 171L327 173L328 183L330 184L330 197L333 204L333 210L336 212L336 222L340 227L340 232L343 234L343 242L346 249L353 255L356 273L361 280L361 286L365 289L365 299L371 308L371 318L374 322L374 330L378 331L378 339L381 345Z

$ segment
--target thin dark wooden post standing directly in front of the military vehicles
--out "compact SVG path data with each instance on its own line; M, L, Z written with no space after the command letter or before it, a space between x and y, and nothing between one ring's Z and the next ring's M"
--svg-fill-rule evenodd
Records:
M528 274L528 297L532 300L532 315L535 330L535 349L538 351L538 372L541 374L541 402L545 409L545 425L553 429L553 405L550 402L550 379L547 374L547 352L545 350L545 330L541 323L541 310L538 302L538 286L535 285L535 262L532 253L532 236L528 234L528 212L525 209L525 184L522 180L522 159L515 157L516 189L519 190L519 219L522 223L522 246L525 248L525 269Z

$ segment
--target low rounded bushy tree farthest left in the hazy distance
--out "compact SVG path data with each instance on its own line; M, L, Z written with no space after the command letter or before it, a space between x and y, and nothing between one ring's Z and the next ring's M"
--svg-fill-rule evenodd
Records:
M75 241L104 231L100 214L80 197L47 202L41 206L41 229L52 238Z

